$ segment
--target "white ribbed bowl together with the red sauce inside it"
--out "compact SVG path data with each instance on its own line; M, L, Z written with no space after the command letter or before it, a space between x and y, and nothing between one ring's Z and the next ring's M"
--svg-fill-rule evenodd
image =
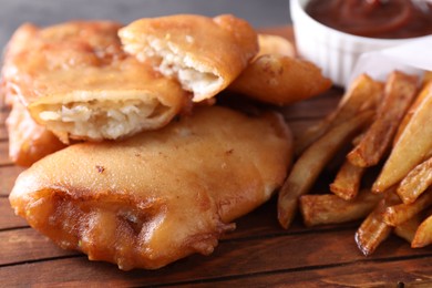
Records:
M301 56L346 85L358 58L432 34L429 0L290 0Z

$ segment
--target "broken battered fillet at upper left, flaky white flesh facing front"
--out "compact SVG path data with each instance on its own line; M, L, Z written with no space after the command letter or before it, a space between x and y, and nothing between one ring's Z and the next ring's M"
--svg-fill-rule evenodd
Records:
M24 24L2 70L7 91L63 142L115 140L166 125L187 102L178 83L122 50L119 23Z

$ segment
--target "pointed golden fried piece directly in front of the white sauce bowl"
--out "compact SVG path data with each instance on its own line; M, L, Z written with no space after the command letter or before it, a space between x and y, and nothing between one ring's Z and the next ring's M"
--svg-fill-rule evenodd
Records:
M287 105L316 96L331 86L313 63L280 54L265 54L250 63L228 88L255 100Z

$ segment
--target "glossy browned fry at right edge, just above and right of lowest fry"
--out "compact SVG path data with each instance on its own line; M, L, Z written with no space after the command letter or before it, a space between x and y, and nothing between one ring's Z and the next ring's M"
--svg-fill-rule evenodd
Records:
M390 226L398 226L432 204L432 192L423 193L414 203L399 204L385 208L382 218Z

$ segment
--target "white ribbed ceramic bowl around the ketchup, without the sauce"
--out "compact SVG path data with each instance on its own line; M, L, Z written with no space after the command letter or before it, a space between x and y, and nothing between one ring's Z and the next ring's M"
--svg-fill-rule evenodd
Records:
M322 73L336 85L348 84L347 81L361 53L415 39L374 39L335 30L321 24L305 12L305 7L309 1L290 0L297 51L300 56L320 66Z

